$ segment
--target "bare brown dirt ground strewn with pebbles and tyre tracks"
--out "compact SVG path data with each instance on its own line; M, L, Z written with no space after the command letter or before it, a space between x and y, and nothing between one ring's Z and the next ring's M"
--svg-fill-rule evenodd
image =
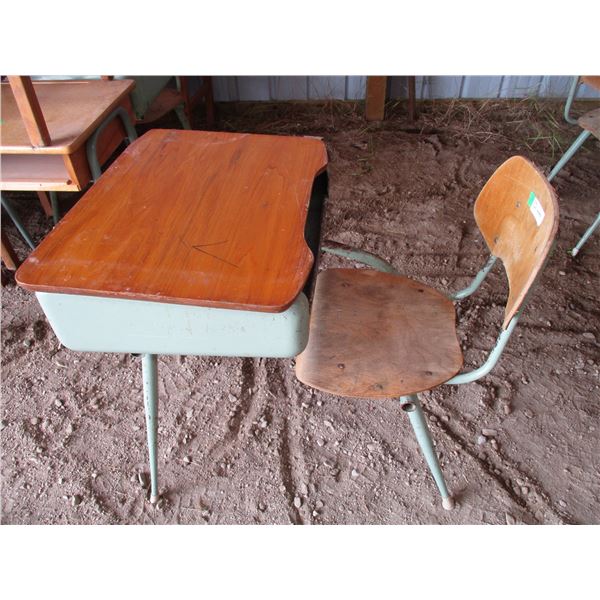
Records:
M578 133L561 123L561 108L430 102L411 124L398 102L378 125L365 123L360 104L239 104L219 107L219 126L322 136L324 238L456 290L486 259L473 219L479 189L514 154L553 166ZM600 143L588 141L554 184L557 244L501 361L478 382L422 395L455 510L442 509L397 402L313 391L292 360L177 356L159 358L164 501L155 508L140 359L61 347L34 296L8 275L1 522L599 523L600 234L575 259L567 249L600 210ZM41 240L51 225L36 197L10 196ZM74 198L62 194L63 206ZM12 223L2 227L26 256ZM321 267L341 264L325 257ZM506 297L497 265L459 304L466 367L493 347Z

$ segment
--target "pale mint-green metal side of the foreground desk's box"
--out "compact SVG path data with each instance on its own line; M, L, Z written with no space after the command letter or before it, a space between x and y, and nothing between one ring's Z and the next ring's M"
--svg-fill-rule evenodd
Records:
M36 292L71 350L291 358L308 341L304 294L281 313Z

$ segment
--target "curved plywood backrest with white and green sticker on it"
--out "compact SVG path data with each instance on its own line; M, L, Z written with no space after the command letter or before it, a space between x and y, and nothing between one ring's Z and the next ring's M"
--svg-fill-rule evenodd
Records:
M519 310L558 229L554 190L538 169L513 156L490 177L475 202L475 220L490 252L502 259L510 293L503 327Z

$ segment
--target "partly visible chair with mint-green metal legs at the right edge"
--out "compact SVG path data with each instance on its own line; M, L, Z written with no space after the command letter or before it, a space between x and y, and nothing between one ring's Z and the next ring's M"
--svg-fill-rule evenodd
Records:
M583 143L593 135L594 137L600 139L600 108L596 110L591 110L586 112L584 115L579 117L578 119L574 119L571 114L571 104L573 103L573 99L575 98L578 86L580 83L584 83L589 85L597 90L600 90L600 76L585 76L585 77L574 77L573 83L571 85L571 89L569 91L569 96L567 97L567 101L565 102L565 121L571 123L573 125L579 125L583 131L577 136L575 141L571 144L571 146L567 149L567 151L562 155L561 159L556 163L550 174L548 175L548 181L552 181L558 172L573 158L577 150L581 148ZM587 228L585 233L581 236L580 240L577 242L575 247L570 251L571 256L577 256L582 246L587 242L592 233L600 226L600 212L596 216L594 222Z

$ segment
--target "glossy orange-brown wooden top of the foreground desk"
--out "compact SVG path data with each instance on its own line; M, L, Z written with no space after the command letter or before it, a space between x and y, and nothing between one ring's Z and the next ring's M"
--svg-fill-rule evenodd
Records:
M280 312L313 256L314 138L153 129L18 270L33 291Z

